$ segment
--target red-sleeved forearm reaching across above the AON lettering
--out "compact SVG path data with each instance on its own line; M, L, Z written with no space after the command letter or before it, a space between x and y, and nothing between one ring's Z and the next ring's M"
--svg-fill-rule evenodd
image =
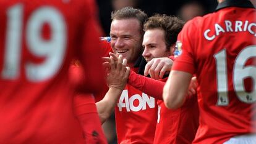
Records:
M127 83L151 97L163 100L162 95L165 82L147 78L131 71Z

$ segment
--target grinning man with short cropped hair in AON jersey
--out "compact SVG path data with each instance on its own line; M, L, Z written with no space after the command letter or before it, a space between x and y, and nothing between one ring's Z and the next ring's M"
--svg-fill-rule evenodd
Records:
M130 70L143 74L146 64L142 57L143 23L147 14L125 7L114 11L111 19L114 53L126 58ZM96 105L101 119L108 118L114 108L118 143L153 143L158 110L155 98L127 84L124 89L109 87L103 100Z

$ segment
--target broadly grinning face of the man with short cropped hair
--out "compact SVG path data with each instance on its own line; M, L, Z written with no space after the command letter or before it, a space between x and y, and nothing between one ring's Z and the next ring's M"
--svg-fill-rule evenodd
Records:
M135 18L113 20L110 27L111 47L114 54L123 55L133 65L142 52L142 35Z

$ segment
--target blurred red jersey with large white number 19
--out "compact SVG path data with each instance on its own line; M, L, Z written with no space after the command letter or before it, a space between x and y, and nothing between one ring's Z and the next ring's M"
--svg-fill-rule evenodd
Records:
M0 143L85 142L67 71L79 59L87 92L101 88L94 10L91 0L0 2Z

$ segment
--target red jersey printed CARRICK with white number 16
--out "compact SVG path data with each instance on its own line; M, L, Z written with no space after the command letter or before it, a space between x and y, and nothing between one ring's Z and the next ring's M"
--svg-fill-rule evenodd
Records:
M198 80L194 143L223 143L255 132L256 11L249 1L236 4L220 3L216 12L187 22L177 39L182 54L173 70L195 72Z

